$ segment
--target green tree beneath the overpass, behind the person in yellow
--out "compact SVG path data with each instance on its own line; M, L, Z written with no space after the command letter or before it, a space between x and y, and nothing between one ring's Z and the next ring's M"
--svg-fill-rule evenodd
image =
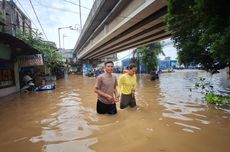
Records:
M162 51L160 42L156 42L137 48L137 54L140 57L141 63L144 64L147 71L150 72L152 68L157 68L159 61L158 55L164 55L164 52Z

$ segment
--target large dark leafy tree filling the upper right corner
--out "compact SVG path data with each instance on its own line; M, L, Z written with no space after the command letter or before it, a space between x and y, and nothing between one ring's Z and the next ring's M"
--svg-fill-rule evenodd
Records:
M166 22L180 63L210 72L229 66L229 8L227 0L168 0Z

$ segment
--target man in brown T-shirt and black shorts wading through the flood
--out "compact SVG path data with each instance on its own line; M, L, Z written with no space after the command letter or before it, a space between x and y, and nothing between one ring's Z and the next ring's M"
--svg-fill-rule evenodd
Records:
M95 93L98 94L97 113L116 114L116 102L119 101L119 94L116 91L117 78L113 75L113 62L105 62L105 72L97 77Z

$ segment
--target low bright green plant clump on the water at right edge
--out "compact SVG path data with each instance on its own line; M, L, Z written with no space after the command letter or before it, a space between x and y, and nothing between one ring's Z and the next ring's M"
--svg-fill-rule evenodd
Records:
M222 96L214 93L208 93L205 95L205 100L212 104L227 104L230 103L230 96Z

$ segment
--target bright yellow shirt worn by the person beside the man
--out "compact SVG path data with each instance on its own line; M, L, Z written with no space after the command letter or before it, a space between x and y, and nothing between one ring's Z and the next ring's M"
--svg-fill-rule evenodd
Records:
M130 76L125 73L121 75L120 80L118 81L117 91L122 94L131 94L132 90L135 90L137 86L136 75Z

